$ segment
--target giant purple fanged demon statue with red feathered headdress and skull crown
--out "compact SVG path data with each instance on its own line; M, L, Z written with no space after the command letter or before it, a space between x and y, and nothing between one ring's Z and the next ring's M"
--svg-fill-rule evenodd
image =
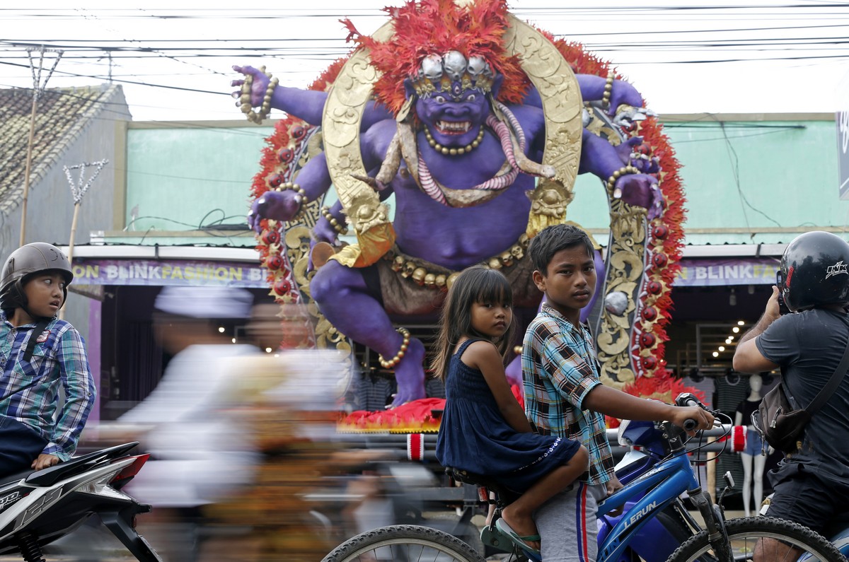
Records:
M503 0L386 11L391 22L371 37L345 22L357 48L316 89L234 67L245 77L233 96L251 120L272 108L290 115L269 139L248 217L274 293L312 299L325 331L380 353L395 372L395 405L424 397L424 346L393 320L432 314L453 275L481 262L509 278L518 306L537 306L527 244L565 222L576 174L590 172L611 202L603 306L588 306L606 376L625 385L661 368L662 300L677 256L664 242L674 237L663 220L663 138L631 134L645 128L638 121L656 132L639 93L580 48L516 20ZM582 57L565 59L570 51ZM576 75L581 64L594 68ZM319 206L331 187L338 201ZM355 244L340 242L349 229ZM286 248L306 263L286 259Z

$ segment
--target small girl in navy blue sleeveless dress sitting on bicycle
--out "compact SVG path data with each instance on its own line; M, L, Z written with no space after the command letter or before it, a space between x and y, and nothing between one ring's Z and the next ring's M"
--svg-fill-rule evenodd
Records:
M448 290L431 363L446 393L436 458L520 494L502 510L499 528L536 549L534 510L576 481L589 456L578 441L534 433L510 391L512 306L507 278L486 267L465 269Z

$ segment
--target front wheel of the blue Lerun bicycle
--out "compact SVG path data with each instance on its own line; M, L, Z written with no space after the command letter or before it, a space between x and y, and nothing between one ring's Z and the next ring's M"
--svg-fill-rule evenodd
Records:
M734 560L751 560L758 539L774 538L802 551L800 559L814 562L846 562L833 544L807 527L774 517L741 517L725 522ZM807 556L806 556L807 555ZM684 542L666 562L713 562L716 560L707 531L701 531ZM793 558L796 560L796 558ZM769 562L783 562L769 560Z

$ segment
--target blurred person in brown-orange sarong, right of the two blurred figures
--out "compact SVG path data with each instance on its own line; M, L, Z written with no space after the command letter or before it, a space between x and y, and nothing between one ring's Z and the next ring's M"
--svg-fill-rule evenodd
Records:
M297 304L255 306L248 334L261 353L239 362L228 419L256 445L261 464L250 485L204 509L221 531L205 543L202 559L314 562L338 542L311 513L321 506L306 496L345 468L335 413L347 357L312 349L312 323ZM227 534L239 526L250 532Z

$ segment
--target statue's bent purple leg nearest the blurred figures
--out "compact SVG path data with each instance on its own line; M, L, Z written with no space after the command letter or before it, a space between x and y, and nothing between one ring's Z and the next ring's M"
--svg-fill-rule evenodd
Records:
M312 298L324 318L351 340L377 351L385 359L396 356L403 337L396 332L380 302L369 294L363 274L338 261L328 261L310 282ZM424 346L410 339L407 352L395 367L398 391L393 406L424 398Z

